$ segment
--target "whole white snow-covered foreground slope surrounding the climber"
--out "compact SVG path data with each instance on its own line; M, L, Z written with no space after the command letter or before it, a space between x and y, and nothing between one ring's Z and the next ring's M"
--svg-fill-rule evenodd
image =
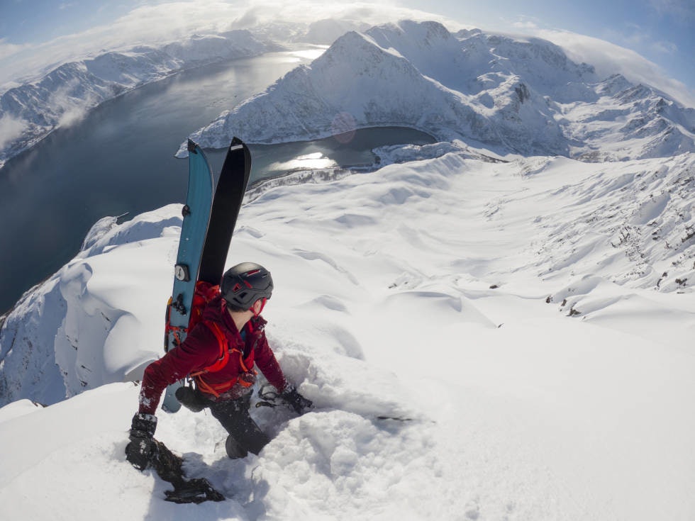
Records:
M199 506L123 456L179 207L103 220L0 330L0 517L691 519L694 179L693 154L450 152L249 194L228 262L272 271L269 340L317 408L255 410L272 442L237 461L210 415L160 414L228 497Z

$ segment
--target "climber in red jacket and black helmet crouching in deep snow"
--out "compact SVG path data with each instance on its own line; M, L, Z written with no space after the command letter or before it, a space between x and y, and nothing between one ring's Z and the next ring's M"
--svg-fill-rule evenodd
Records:
M126 447L133 466L146 469L157 450L155 411L162 391L187 376L194 378L196 388L179 388L177 398L196 412L210 408L229 433L230 458L258 454L269 442L249 414L254 365L297 413L311 407L311 401L287 383L266 340L266 321L260 313L272 290L272 277L259 264L244 262L228 269L220 294L208 303L186 340L145 369L140 408L133 416Z

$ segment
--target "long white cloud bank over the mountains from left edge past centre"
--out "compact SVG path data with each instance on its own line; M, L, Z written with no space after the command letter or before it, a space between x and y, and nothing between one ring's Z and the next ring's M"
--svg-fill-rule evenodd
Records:
M191 16L191 10L196 16ZM107 26L45 43L9 46L2 45L0 40L0 92L3 84L38 75L52 65L96 55L104 50L168 42L195 33L218 33L265 23L312 22L324 18L375 24L410 18L442 21L452 30L462 27L442 16L402 8L390 1L347 4L318 0L172 1L140 6Z

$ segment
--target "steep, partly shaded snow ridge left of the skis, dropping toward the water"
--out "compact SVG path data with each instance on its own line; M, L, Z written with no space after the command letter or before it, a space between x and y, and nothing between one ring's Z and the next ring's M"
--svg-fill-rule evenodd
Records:
M55 403L139 377L138 366L150 361L152 346L162 343L161 335L143 335L140 321L161 320L168 298L164 288L172 280L166 269L157 270L148 252L157 247L155 237L178 237L181 218L174 206L123 225L116 218L100 220L72 262L21 298L0 330L0 401L28 397ZM137 264L131 262L133 250L144 255ZM94 279L95 273L111 271L111 263L121 275ZM151 317L136 296L140 284L161 295L160 310Z

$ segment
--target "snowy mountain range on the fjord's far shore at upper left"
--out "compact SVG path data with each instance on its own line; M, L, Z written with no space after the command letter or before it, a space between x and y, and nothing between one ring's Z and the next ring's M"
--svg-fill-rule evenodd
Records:
M193 36L163 47L135 47L70 62L0 96L0 168L53 129L114 96L210 62L248 57L271 46L248 31Z

